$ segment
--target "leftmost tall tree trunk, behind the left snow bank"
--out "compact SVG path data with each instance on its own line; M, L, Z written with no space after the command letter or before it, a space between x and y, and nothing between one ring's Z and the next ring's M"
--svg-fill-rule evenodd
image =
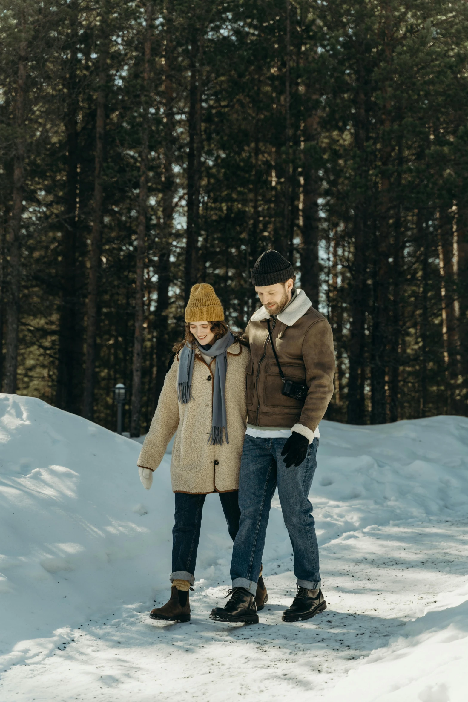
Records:
M8 227L8 298L6 303L6 359L5 392L16 392L18 367L18 329L20 324L20 278L21 278L21 216L25 183L25 103L27 76L26 11L21 11L20 44L18 58L18 82L15 100L15 157L13 165L13 206Z

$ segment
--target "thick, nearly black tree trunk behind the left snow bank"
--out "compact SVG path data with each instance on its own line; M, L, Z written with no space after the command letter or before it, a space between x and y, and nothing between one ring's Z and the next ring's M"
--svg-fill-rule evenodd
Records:
M81 319L81 242L78 225L78 132L79 110L76 83L78 53L78 0L69 4L69 69L67 78L67 187L65 227L62 232L60 261L60 322L58 329L58 369L55 405L68 412L79 412L82 369Z

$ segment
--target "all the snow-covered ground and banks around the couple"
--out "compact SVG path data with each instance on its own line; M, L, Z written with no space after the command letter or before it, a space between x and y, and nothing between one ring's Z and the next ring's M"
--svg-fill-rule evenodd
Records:
M281 622L295 578L275 501L260 624L210 621L232 549L210 495L192 621L165 625L147 611L170 590L170 456L147 493L137 443L0 395L1 701L465 701L468 420L323 422L321 435L328 609Z

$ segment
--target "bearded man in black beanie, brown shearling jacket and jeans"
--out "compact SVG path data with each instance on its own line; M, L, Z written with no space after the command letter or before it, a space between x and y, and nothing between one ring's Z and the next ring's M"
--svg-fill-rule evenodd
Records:
M215 621L258 622L255 592L276 485L297 578L297 595L283 621L326 609L308 495L319 422L333 395L335 352L330 325L294 281L293 266L277 251L265 251L253 267L252 282L263 306L246 329L252 359L239 477L241 520L232 552L231 597L225 607L213 609Z

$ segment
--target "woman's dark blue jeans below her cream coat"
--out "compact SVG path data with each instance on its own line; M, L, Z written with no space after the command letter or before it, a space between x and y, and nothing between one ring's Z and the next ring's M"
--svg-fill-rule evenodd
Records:
M239 493L220 492L222 511L225 513L227 530L234 541L239 531ZM188 580L190 585L195 582L196 552L199 548L201 515L206 495L189 495L185 492L174 493L175 515L171 582L176 578Z

